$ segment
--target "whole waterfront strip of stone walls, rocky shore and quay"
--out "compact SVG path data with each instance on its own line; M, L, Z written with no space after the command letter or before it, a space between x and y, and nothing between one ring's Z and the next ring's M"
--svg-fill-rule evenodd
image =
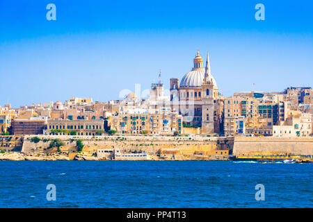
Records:
M0 160L290 160L311 162L311 137L1 136ZM9 139L11 138L11 139Z

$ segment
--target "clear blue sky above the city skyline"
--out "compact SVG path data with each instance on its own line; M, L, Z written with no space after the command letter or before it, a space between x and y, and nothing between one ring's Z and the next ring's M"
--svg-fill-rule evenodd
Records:
M46 6L56 4L56 21ZM264 3L265 21L255 20ZM0 105L119 99L210 54L222 94L313 86L312 1L0 0ZM253 87L252 84L255 83Z

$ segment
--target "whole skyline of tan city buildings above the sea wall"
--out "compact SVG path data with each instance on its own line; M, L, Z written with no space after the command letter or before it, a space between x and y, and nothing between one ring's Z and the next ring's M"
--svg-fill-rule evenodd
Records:
M61 103L0 107L2 135L201 135L310 137L313 89L239 92L224 97L200 53L179 83L170 78L165 96L161 74L150 95L129 93L109 102L70 98Z

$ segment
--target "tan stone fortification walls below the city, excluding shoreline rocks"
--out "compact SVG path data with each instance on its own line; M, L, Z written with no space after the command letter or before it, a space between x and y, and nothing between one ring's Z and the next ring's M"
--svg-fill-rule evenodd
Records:
M39 137L40 142L31 142L33 137ZM199 158L215 155L313 155L312 137L88 137L43 135L29 135L19 140L23 141L22 153L56 153L56 148L48 148L52 139L61 139L64 143L64 146L61 146L61 151L67 153L76 152L76 140L81 139L85 155L95 155L99 148L120 148L122 152L127 153L167 153L169 155L175 153L177 156L182 155L185 157L198 155Z

